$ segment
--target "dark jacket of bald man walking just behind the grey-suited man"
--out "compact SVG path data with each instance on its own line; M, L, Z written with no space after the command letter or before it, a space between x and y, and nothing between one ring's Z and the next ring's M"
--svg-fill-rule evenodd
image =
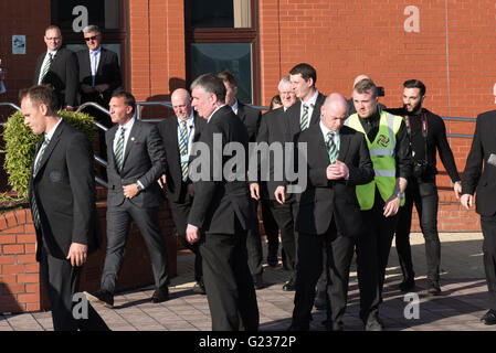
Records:
M201 130L207 125L207 120L194 114L194 135L192 141L198 141ZM184 183L182 182L181 160L179 156L178 141L178 117L176 115L160 121L157 126L158 132L163 141L167 160L167 197L169 201L178 202Z

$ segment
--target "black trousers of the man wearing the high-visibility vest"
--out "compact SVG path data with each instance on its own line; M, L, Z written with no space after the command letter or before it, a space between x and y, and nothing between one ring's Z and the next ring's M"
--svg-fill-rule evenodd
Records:
M383 207L384 201L376 189L372 208L362 211L362 220L368 231L357 239L360 318L363 321L367 321L370 314L377 313L382 302L386 267L398 223L398 214L384 217Z

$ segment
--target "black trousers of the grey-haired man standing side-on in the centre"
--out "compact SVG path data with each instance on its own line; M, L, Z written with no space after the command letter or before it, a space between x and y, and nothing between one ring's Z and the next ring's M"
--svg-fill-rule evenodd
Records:
M258 306L247 267L246 231L205 234L200 243L212 331L258 330Z

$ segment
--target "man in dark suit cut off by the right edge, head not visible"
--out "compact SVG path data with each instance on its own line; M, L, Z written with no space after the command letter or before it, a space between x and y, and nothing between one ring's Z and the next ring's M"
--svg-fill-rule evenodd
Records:
M481 319L496 324L496 110L477 117L474 139L462 178L461 203L472 207L476 192L475 211L481 215L484 235L484 269L489 291L489 310Z

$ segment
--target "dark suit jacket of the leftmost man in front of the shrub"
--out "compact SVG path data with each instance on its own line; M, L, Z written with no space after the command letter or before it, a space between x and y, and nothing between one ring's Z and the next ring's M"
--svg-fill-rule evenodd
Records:
M41 142L36 154L40 147ZM29 183L29 200L35 197L41 221L40 228L35 229L36 260L41 259L43 243L50 254L60 259L66 258L72 243L85 244L88 253L94 252L102 237L88 139L61 121L40 163L35 176L31 169Z

